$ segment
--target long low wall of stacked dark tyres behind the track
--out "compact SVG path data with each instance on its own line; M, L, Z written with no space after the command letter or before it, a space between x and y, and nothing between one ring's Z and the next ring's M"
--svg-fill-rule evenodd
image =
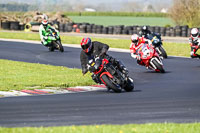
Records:
M6 30L24 30L24 25L20 25L19 22L2 22L2 29ZM61 32L78 32L78 33L96 33L96 34L125 34L132 35L138 34L141 31L142 26L106 26L95 25L89 23L58 23L58 28ZM190 36L191 28L186 26L175 26L175 27L159 27L150 26L149 29L152 32L160 33L162 36Z

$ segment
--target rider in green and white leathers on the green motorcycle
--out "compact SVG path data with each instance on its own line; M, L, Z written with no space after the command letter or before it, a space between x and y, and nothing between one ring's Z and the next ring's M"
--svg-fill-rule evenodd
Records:
M48 35L51 32L58 33L58 31L56 29L54 29L52 26L50 26L50 24L48 23L48 20L43 20L42 24L40 25L40 28L39 28L39 34L40 34L41 43L46 47L49 44Z

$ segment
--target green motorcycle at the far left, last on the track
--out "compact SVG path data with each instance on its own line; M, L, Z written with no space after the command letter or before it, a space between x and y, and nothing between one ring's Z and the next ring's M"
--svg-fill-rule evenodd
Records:
M59 32L57 31L50 31L48 33L47 42L49 44L49 51L59 50L60 52L64 52L64 48L61 44L61 39Z

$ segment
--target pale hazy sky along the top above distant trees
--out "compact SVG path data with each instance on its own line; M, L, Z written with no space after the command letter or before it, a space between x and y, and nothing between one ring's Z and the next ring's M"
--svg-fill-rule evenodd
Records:
M122 8L144 8L148 5L153 5L156 10L162 8L168 8L172 5L173 0L0 0L0 3L28 3L35 4L38 7L45 4L50 5L63 5L67 8L72 7L72 9L78 5L84 5L84 7L105 7L110 11L120 11ZM129 7L128 7L129 5ZM103 9L102 9L103 10Z

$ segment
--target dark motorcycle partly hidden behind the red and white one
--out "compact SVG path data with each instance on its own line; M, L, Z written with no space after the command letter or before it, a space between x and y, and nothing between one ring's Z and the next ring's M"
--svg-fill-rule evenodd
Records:
M158 52L160 57L167 58L167 53L163 48L162 39L159 34L152 33L147 36L147 39L151 40L153 46L155 47L156 51Z

